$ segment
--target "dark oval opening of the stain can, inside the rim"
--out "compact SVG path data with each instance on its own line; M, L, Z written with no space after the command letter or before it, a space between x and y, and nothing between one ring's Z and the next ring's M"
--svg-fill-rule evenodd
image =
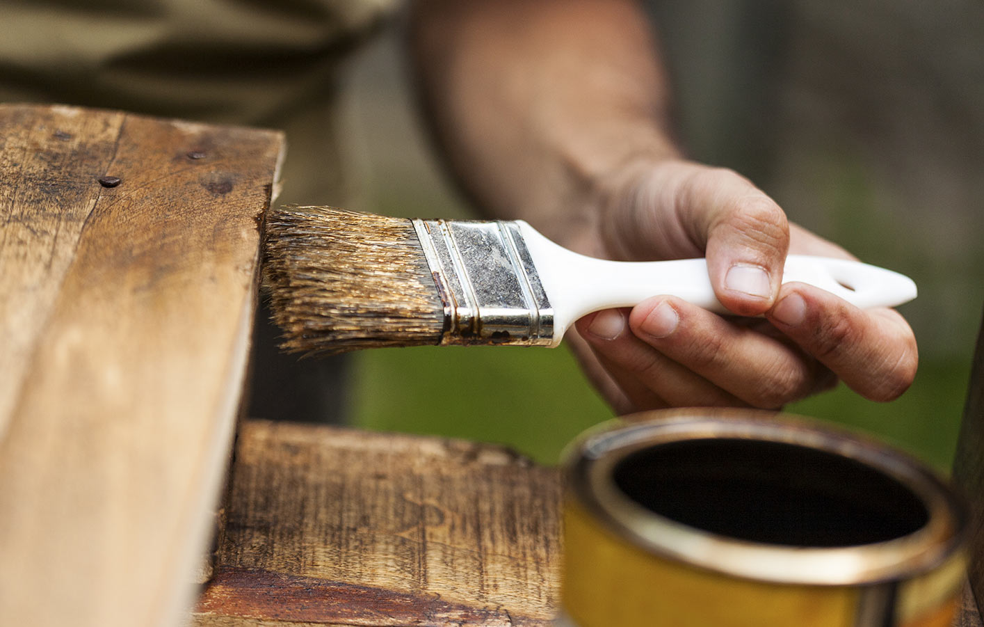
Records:
M613 479L659 516L753 542L856 546L917 532L929 520L919 495L890 474L781 442L658 444L619 461Z

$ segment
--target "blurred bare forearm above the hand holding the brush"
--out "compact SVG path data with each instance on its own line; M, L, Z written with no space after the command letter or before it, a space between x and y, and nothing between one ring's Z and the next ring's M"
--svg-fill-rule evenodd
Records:
M593 230L606 182L675 155L666 78L634 2L418 0L411 15L424 110L486 213L570 240Z

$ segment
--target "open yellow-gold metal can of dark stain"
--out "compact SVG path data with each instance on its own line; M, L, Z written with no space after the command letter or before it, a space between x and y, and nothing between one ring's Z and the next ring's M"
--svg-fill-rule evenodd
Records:
M764 411L654 411L569 450L570 627L949 627L967 514L906 454Z

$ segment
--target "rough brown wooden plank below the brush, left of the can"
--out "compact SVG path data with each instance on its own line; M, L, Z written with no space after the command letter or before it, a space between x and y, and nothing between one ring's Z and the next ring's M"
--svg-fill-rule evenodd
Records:
M457 440L250 420L194 624L548 625L556 470Z

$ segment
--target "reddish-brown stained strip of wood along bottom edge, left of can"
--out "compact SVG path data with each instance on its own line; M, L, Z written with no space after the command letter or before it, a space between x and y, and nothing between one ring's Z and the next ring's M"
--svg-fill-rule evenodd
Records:
M412 595L385 588L284 575L265 570L230 568L215 577L199 598L197 613L219 612L261 620L289 620L331 625L368 625L373 616L386 625L487 624L510 619L498 607L470 607L440 596ZM354 622L353 622L354 621Z

